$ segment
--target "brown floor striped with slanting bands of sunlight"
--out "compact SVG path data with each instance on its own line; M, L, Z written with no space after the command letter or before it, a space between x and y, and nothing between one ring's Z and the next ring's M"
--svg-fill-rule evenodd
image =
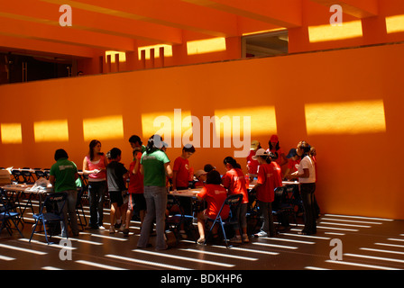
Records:
M88 214L88 208L85 207ZM106 220L109 210L105 210ZM10 237L0 235L0 269L2 270L207 270L256 273L262 270L384 270L404 269L404 221L355 216L322 215L317 235L301 236L292 226L276 238L251 238L250 243L226 248L224 243L198 246L191 239L178 247L155 251L153 247L137 249L139 221L132 221L130 236L109 234L106 230L86 229L69 238L71 249L58 244L47 245L42 233L31 233L29 211L23 229L24 238L14 231ZM88 217L88 215L87 215ZM339 239L339 240L333 240ZM56 242L60 239L54 238ZM334 241L339 244L335 246ZM152 245L154 238L151 238ZM71 252L71 253L70 253ZM337 253L339 252L339 253ZM71 256L71 259L62 260ZM332 260L331 258L340 256ZM139 272L141 271L141 272ZM149 273L148 272L148 273Z

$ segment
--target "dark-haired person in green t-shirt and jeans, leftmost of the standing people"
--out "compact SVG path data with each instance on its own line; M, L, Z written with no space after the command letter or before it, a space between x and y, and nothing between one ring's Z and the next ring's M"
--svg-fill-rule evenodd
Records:
M68 153L64 149L57 149L55 152L56 163L50 167L49 177L50 184L54 187L55 192L68 194L66 204L63 207L64 221L60 222L62 237L68 236L68 214L71 231L74 236L78 236L78 217L76 214L78 167L68 158Z

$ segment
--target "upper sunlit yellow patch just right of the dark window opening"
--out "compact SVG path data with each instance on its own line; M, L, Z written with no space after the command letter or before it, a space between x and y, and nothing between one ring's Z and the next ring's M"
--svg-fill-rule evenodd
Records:
M338 25L319 25L308 27L308 38L310 42L323 42L332 40L344 40L363 36L362 22L344 22Z

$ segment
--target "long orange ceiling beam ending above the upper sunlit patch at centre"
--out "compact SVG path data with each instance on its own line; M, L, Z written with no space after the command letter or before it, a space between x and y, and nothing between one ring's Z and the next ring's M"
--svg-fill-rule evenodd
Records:
M237 36L237 17L180 0L41 0L99 14L155 23L214 37ZM74 16L73 16L74 18ZM74 20L73 20L74 21Z

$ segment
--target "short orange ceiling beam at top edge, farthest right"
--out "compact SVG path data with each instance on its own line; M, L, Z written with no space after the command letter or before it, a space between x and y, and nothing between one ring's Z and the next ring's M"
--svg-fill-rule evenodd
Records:
M339 4L343 8L344 14L349 14L359 19L373 17L379 14L378 0L311 0L311 1L329 7L331 7L334 4Z

